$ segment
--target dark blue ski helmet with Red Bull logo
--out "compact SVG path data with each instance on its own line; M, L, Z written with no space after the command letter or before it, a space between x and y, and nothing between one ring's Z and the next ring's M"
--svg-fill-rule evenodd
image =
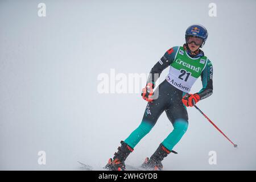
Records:
M203 47L205 41L208 37L207 29L201 24L192 24L189 26L185 32L185 41L187 43L188 36L195 36L196 38L203 39L203 44L200 47Z

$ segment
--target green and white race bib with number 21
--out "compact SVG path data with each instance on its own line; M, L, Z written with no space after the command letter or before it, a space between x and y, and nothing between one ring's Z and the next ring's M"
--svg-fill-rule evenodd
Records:
M184 48L180 46L173 63L170 65L166 80L177 89L189 93L196 79L201 76L207 61L206 56L190 57Z

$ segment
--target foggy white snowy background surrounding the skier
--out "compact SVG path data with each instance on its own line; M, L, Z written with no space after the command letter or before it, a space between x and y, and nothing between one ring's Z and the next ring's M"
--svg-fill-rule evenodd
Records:
M46 17L38 4L46 3ZM216 3L217 17L208 15ZM213 95L197 106L165 170L255 170L255 7L251 1L0 1L0 169L102 169L146 107L140 94L99 94L97 76L148 73L193 23L209 32ZM168 68L160 76L164 80ZM146 84L146 83L145 83ZM201 89L200 78L192 93ZM173 127L163 113L126 163L139 166ZM46 165L38 164L46 151ZM209 165L209 151L217 164Z

